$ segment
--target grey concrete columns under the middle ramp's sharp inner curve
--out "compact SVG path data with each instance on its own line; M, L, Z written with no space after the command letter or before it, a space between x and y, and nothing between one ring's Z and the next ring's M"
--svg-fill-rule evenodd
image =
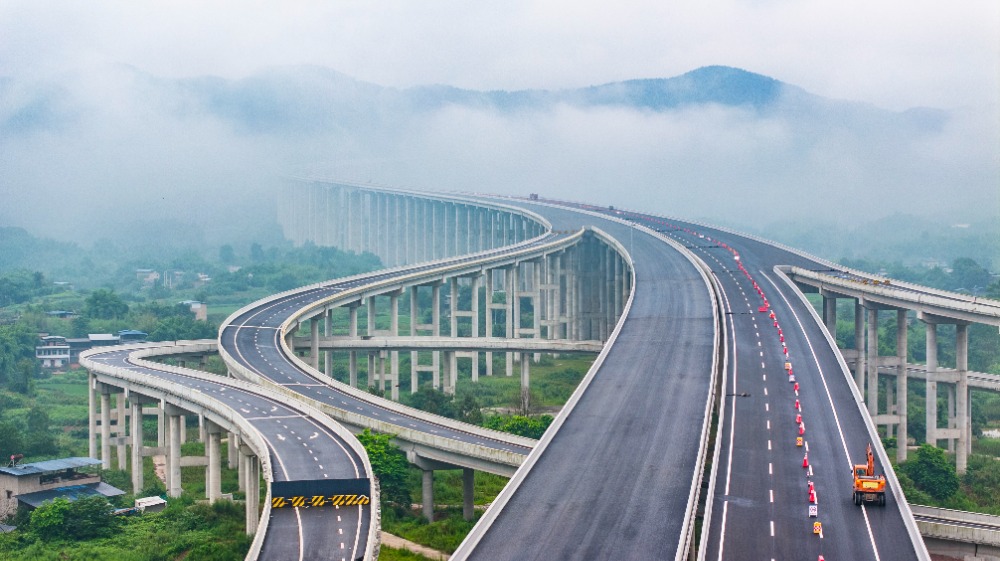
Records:
M348 334L351 338L400 336L399 302L406 292L409 296L409 335L441 337L446 324L442 321L442 298L447 291L447 329L451 337L604 341L627 300L628 275L627 265L613 248L587 236L576 246L544 256L349 302L346 304ZM467 309L460 305L463 286L471 293ZM421 295L426 296L428 292L430 323L424 323ZM389 301L389 329L377 329L379 305L384 306L386 299ZM481 302L485 302L485 314L481 314L484 311ZM530 322L524 321L526 314L522 313L526 304L532 310ZM362 306L367 314L364 335L359 331L359 308ZM327 375L332 375L332 352L320 352L320 337L333 334L333 312L334 308L328 308L309 321L309 361L313 368L320 370L322 356L323 371ZM502 324L494 322L497 314L503 315ZM485 316L485 325L481 315ZM354 387L358 383L358 352L349 351L348 357L349 383ZM492 376L493 353L484 354L486 375ZM422 373L430 373L435 389L454 394L458 360L471 360L472 380L477 381L479 355L476 351L410 351L410 391L418 390ZM538 354L529 357L529 353L506 352L505 374L513 376L514 366L520 364L521 384L526 390L530 386L529 361L537 362L539 358ZM401 385L399 351L369 351L367 360L368 386L377 385L385 395L398 400Z

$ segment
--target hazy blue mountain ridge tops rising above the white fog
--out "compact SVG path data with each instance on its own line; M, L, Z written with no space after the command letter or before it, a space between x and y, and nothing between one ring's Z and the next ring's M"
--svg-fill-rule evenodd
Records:
M665 112L716 105L751 110L764 117L846 123L876 121L916 131L938 130L947 112L917 108L893 112L857 102L838 101L754 72L706 66L672 78L633 79L561 90L477 91L444 85L405 89L356 80L316 66L285 66L250 77L213 76L167 79L119 67L120 87L132 88L150 103L180 117L212 115L248 133L314 133L380 126L449 107L499 114L550 111L563 105L580 109L624 108ZM33 86L33 87L32 87ZM17 84L0 78L0 135L65 126L85 107L61 84Z

